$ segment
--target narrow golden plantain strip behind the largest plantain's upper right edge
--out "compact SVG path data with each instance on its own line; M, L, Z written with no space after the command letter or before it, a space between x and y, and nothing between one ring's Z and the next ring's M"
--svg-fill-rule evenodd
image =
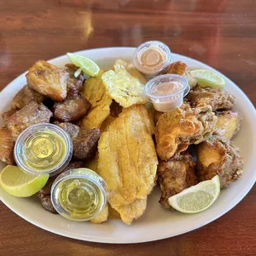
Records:
M134 105L128 108L125 108L123 112L135 110L140 114L141 120L145 123L149 135L154 135L154 117L146 109L145 105Z

